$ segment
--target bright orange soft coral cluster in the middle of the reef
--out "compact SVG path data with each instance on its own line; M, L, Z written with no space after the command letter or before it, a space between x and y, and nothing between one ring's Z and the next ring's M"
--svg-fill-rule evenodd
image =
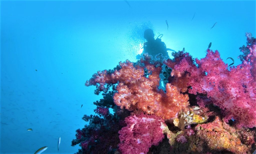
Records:
M148 59L141 59L140 63L134 64L126 60L120 62L119 66L120 69L111 73L104 70L94 74L86 84L99 84L99 90L103 91L104 84L118 83L118 92L113 96L116 105L129 111L138 110L154 114L163 119L174 118L180 110L189 105L188 95L180 93L176 86L167 83L166 93L158 89L161 63L150 63ZM148 70L148 77L144 69Z

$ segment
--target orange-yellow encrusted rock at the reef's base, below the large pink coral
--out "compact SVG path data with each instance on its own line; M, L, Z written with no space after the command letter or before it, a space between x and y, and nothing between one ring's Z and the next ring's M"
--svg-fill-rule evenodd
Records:
M223 128L223 123L219 117L207 124L199 124L195 127L195 140L191 143L191 151L229 151L232 153L247 153L248 147L242 144L237 138L236 132L229 132Z

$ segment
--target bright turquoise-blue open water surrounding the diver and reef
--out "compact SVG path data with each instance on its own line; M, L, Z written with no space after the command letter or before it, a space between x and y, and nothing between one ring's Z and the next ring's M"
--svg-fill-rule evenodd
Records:
M44 146L44 153L57 153L59 137L59 153L77 152L79 146L71 147L75 130L87 124L81 118L94 114L93 102L101 98L85 81L119 61L136 61L147 28L163 34L167 48L185 48L194 58L205 57L212 42L211 49L227 63L234 58L234 65L241 63L245 32L256 35L255 1L128 3L1 1L0 153Z

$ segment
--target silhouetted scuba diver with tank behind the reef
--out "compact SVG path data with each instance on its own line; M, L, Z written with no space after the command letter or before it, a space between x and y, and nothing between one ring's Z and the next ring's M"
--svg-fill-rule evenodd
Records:
M161 35L163 36L163 34ZM161 41L162 36L160 38L158 38L158 36L156 39L154 39L154 36L155 34L152 29L146 29L144 31L144 38L147 40L147 42L144 43L143 52L138 54L136 59L140 59L143 53L148 53L149 55L153 56L153 58L155 58L157 54L162 53L164 57L169 58L167 50L174 50L166 48L165 43Z

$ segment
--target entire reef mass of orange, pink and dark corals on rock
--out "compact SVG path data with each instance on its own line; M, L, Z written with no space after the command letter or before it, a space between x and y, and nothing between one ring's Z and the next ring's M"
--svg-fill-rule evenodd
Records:
M79 153L252 153L256 149L256 39L246 33L242 64L228 67L219 52L193 59L144 54L98 71L85 85L103 98L76 131ZM165 89L159 88L165 77ZM113 110L110 113L109 108Z

